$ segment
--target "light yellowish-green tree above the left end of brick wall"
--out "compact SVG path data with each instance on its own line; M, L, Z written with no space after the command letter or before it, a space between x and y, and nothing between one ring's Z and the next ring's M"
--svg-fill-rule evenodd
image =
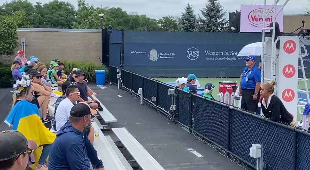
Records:
M8 21L13 22L19 28L32 28L24 11L15 11L13 15L6 15Z

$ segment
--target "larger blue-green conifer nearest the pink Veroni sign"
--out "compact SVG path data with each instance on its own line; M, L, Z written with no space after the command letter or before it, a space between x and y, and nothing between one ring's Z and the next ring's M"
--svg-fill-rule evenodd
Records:
M197 31L204 32L225 32L228 30L228 20L225 16L226 11L218 0L208 0L205 8L200 10L198 16Z

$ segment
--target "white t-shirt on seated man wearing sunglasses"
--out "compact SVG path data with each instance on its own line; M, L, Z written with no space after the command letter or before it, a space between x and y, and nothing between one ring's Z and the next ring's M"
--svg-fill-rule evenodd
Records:
M55 115L57 131L68 121L72 107L73 103L68 98L59 103Z

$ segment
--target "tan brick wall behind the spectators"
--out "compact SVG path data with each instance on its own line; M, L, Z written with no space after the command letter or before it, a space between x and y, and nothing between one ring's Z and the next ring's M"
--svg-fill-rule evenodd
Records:
M100 63L100 31L18 28L18 37L19 42L21 38L25 38L27 59L36 56L44 62L59 58L60 60L83 60Z

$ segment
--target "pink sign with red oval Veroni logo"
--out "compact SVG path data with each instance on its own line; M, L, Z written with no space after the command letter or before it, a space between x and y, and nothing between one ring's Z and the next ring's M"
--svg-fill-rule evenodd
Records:
M266 5L266 14L273 5ZM277 12L281 9L282 5L277 5ZM241 5L240 17L240 32L262 32L263 30L263 5ZM265 27L273 22L274 9L266 17ZM276 13L277 14L277 13ZM279 23L280 31L283 32L283 9L276 17L276 22ZM270 32L266 30L266 32Z

